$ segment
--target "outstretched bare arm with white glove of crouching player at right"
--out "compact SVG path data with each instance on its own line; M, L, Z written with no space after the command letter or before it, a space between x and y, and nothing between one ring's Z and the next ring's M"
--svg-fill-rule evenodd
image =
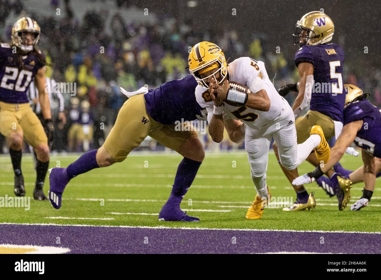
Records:
M315 179L320 178L324 173L327 173L327 171L330 170L343 157L345 150L354 141L357 131L361 129L362 125L363 120L358 120L344 125L341 134L336 140L335 146L331 149L330 160L322 167L318 166L314 171L303 174L294 179L292 184L294 186L308 184L313 182Z

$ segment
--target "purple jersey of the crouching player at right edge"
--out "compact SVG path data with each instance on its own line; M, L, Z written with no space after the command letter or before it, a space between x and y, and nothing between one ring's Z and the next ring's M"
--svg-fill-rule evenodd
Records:
M381 109L368 100L352 102L344 109L344 125L363 120L355 144L369 154L381 158Z

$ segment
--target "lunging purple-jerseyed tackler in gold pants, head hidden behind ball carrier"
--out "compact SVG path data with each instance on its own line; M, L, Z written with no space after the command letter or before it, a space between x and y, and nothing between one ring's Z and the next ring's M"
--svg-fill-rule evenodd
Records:
M102 147L86 152L67 168L52 168L49 199L53 207L61 207L62 193L72 178L94 168L123 162L131 150L151 136L184 157L178 166L170 197L159 213L159 221L200 221L184 213L180 203L191 187L205 152L195 130L176 128L176 122L182 119L206 118L206 109L196 101L196 86L195 78L189 74L182 79L163 83L155 90L145 87L133 93L122 90L129 99L119 110Z

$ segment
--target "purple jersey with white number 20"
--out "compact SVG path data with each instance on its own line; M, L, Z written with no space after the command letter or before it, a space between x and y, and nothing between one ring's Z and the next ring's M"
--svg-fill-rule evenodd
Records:
M44 65L34 53L22 56L24 69L16 65L16 55L9 44L0 44L0 101L29 103L27 91L37 71Z

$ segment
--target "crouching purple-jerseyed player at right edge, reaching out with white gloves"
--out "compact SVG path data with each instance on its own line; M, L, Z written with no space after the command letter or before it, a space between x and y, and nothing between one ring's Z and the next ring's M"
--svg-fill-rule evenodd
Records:
M299 176L293 184L307 184L317 180L323 185L323 173L331 169L343 157L347 147L354 142L362 149L364 163L362 171L365 182L362 197L351 206L351 210L356 211L368 205L376 185L376 173L379 171L376 170L376 158L381 158L381 109L371 104L367 100L369 94L364 94L357 86L344 86L348 91L344 108L344 127L331 149L330 160L323 167L318 166L314 171ZM341 201L339 210L343 210L351 197L351 179L334 173L330 179L324 180L328 181L327 186L338 196L339 202ZM331 193L327 190L326 192Z

